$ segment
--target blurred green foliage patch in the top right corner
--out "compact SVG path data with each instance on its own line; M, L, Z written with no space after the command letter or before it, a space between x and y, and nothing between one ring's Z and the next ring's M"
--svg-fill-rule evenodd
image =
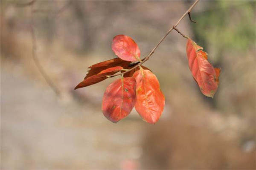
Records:
M256 1L211 1L204 11L192 13L198 21L192 24L198 45L211 48L213 62L221 53L242 53L255 45Z

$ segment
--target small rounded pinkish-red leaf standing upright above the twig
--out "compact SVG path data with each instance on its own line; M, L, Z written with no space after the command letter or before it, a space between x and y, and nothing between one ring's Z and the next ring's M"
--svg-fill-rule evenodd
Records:
M140 49L131 37L117 35L112 41L112 50L125 61L140 61Z

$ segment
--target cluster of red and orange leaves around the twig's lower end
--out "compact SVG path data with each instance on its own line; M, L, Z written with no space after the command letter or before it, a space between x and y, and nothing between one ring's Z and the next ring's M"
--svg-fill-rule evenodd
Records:
M140 49L131 37L114 37L112 50L119 58L92 65L84 80L75 89L93 85L119 71L126 71L131 68L131 62L141 62ZM141 65L123 74L107 87L102 99L102 111L111 122L118 122L128 116L135 106L146 122L154 124L163 112L164 103L157 77Z

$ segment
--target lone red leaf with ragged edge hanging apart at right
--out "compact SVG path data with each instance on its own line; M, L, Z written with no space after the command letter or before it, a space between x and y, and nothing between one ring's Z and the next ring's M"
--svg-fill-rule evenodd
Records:
M202 49L193 40L188 39L186 53L192 76L198 83L201 92L205 96L213 98L218 88L220 68L213 68L207 60L208 54Z

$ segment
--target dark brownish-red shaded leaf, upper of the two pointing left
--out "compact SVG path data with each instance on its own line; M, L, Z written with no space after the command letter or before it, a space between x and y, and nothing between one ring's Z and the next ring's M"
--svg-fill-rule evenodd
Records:
M127 69L128 65L130 63L131 62L124 61L118 57L114 58L114 59L107 60L107 61L99 62L99 63L94 64L89 67L90 70L88 71L88 73L87 73L86 77L84 77L84 79L86 79L87 77L93 76L95 74L98 74L102 70L105 70L105 69L111 68L111 67L121 66L121 67Z

